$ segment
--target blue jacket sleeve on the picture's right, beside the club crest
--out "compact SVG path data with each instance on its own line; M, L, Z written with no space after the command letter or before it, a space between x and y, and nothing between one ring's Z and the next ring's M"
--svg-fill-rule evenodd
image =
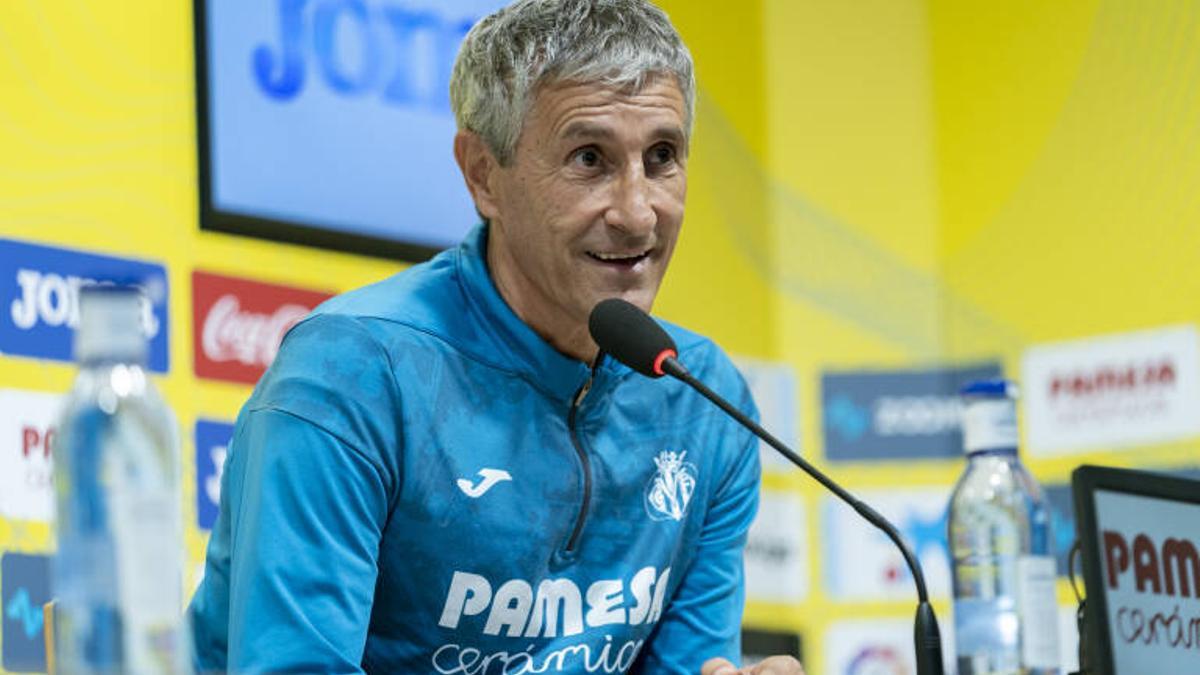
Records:
M744 384L738 408L757 420ZM742 661L742 555L758 508L760 462L757 440L734 425L724 426L732 456L710 498L695 557L632 673L700 675L709 658Z

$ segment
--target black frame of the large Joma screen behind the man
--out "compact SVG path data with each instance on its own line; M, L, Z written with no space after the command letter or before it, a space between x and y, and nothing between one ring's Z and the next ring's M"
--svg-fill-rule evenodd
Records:
M443 251L424 244L397 241L382 237L353 234L336 229L326 229L311 223L275 220L233 211L223 211L212 204L212 157L210 155L209 125L209 42L208 42L208 2L192 2L193 54L196 55L196 157L197 183L199 186L199 225L200 231L221 232L300 244L317 249L358 253L376 258L386 258L407 263L420 263Z

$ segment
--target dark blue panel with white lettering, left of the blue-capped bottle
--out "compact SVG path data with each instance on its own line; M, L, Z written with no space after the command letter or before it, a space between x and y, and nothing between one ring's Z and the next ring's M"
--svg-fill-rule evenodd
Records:
M950 459L962 454L959 389L1000 377L1000 363L821 376L822 432L833 461Z

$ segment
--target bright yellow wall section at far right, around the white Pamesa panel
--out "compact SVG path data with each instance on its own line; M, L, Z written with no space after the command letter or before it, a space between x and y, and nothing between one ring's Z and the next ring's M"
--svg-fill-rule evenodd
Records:
M1195 324L1200 5L935 0L930 17L948 353L1002 353L1016 372L1031 344ZM1034 468L1064 478L1078 460Z

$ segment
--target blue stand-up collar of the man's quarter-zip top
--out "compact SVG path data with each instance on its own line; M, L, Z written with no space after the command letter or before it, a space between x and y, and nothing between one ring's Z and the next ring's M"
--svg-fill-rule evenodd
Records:
M607 358L600 359L593 372L590 365L563 354L521 321L492 281L487 268L487 232L486 223L476 226L456 253L472 323L492 344L494 353L487 356L488 360L523 375L534 387L568 405L589 378L594 392L602 381L631 372Z

